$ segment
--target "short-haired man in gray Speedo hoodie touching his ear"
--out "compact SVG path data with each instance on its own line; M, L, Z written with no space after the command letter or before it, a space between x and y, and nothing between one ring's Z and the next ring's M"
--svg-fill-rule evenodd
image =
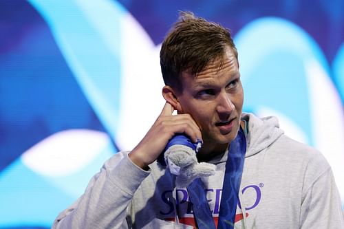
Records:
M283 135L276 118L241 113L244 93L228 30L182 12L164 39L160 65L166 84L160 116L133 151L105 162L53 228L344 228L321 153ZM156 162L177 133L202 140L197 159L216 165L215 175L197 180L199 200L191 195L196 186L176 188L175 175ZM231 159L239 137L246 143L238 148L242 170ZM238 190L224 182L234 167L238 179L230 182ZM195 207L202 199L206 206ZM223 204L228 199L235 204Z

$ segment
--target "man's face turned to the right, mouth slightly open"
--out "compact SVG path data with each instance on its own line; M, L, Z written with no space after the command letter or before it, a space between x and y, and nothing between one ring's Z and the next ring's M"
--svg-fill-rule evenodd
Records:
M183 91L177 96L182 113L189 113L202 131L208 150L221 150L237 135L244 91L241 85L237 59L230 47L224 62L209 63L204 71L193 77L182 73Z

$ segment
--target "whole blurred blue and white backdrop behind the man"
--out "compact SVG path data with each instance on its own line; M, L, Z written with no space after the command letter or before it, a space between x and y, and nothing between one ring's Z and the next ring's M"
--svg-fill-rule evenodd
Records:
M330 162L344 203L344 1L0 1L0 228L50 228L164 100L178 10L230 28L244 111Z

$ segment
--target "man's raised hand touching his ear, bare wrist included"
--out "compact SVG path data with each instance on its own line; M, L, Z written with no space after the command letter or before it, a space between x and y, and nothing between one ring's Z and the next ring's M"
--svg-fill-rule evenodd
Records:
M186 133L193 142L202 140L202 133L195 120L188 113L173 116L173 111L172 105L166 102L151 129L129 153L129 158L140 168L147 170L148 165L158 158L176 133Z

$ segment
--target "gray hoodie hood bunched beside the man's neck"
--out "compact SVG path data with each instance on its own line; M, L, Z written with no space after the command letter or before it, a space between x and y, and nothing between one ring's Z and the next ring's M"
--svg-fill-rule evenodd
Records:
M279 129L279 121L274 116L257 118L252 113L242 113L241 119L248 123L245 157L250 157L268 148L283 134L283 131Z

